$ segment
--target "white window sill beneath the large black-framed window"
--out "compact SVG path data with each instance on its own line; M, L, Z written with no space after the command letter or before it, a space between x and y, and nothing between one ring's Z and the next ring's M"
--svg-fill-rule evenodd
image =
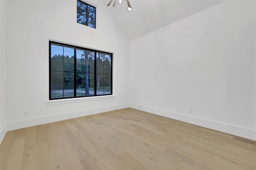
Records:
M48 100L48 105L55 105L55 104L67 104L67 103L76 103L76 102L87 102L93 100L104 100L104 99L112 99L115 98L115 95L107 95L107 96L92 96L92 97L85 97L85 98L71 98L71 99L58 99L58 100Z

